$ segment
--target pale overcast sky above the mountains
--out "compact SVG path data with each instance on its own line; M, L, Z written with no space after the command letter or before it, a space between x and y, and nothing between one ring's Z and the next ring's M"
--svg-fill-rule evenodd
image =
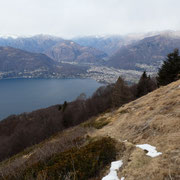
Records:
M61 37L180 29L180 0L0 0L0 34Z

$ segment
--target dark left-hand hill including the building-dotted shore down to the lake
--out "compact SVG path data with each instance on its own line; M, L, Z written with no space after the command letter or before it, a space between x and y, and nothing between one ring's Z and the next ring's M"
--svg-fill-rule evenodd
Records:
M86 72L86 67L61 64L41 53L0 47L1 78L59 78Z

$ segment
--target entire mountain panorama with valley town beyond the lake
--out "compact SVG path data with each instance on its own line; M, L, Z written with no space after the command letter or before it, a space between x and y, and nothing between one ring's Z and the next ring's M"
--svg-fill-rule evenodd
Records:
M134 79L144 70L156 73L175 48L180 49L180 31L72 40L49 35L0 36L0 78L80 76L114 82L126 73Z

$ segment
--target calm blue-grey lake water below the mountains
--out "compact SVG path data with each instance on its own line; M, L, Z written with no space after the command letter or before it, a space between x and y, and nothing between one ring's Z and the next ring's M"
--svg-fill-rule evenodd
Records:
M92 79L0 80L0 120L11 115L88 96L102 84Z

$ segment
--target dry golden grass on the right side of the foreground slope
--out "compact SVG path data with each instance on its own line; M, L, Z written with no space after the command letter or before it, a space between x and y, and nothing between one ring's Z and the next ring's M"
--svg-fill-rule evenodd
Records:
M162 152L151 158L141 149L127 148L119 177L126 180L180 180L180 81L161 87L108 114L111 123L91 136L150 144ZM105 116L105 115L104 115ZM108 117L107 117L108 118Z

